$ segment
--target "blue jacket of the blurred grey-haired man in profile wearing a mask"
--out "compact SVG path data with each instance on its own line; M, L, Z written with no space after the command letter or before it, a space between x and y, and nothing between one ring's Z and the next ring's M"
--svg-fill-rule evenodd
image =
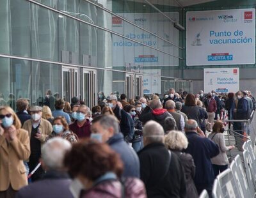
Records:
M124 177L140 178L140 162L138 155L125 141L124 135L118 133L113 135L108 142L109 146L119 153L124 163Z

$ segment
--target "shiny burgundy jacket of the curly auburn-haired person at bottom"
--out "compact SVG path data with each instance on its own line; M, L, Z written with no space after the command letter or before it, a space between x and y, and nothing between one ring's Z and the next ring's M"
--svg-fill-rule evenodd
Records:
M145 186L140 179L125 179L124 194L126 198L147 198ZM95 187L81 193L82 198L104 197L120 198L122 197L122 184L118 180L109 180L99 183Z

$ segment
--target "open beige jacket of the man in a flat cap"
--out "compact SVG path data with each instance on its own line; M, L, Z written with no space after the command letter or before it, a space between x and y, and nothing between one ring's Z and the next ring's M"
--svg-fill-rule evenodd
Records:
M29 140L30 140L31 131L32 131L32 120L31 119L27 120L24 123L22 128L24 128L25 130L28 131ZM42 144L44 144L46 137L51 134L51 132L52 132L52 125L46 119L41 118L41 123L40 123L40 126L39 126L38 129L40 130L40 132L42 134L42 137L40 139L40 142L41 142L41 145L42 145Z

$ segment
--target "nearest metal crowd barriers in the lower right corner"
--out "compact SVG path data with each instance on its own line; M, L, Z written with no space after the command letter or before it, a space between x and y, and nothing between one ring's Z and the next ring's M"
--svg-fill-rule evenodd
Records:
M255 197L256 158L252 141L244 142L243 149L244 166L240 155L237 155L230 164L230 168L221 172L214 180L212 188L213 198ZM200 197L207 197L205 192L203 193Z

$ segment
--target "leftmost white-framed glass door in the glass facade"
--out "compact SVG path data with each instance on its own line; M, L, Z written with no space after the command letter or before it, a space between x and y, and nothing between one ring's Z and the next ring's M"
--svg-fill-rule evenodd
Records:
M71 98L79 98L79 72L78 68L62 66L62 98L71 102Z

